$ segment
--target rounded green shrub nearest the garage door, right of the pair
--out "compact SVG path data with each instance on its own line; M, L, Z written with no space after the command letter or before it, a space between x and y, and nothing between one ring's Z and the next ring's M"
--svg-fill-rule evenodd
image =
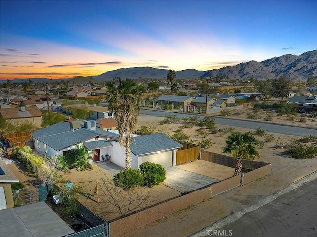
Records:
M158 185L166 179L166 170L160 164L144 162L140 165L140 170L146 186Z

